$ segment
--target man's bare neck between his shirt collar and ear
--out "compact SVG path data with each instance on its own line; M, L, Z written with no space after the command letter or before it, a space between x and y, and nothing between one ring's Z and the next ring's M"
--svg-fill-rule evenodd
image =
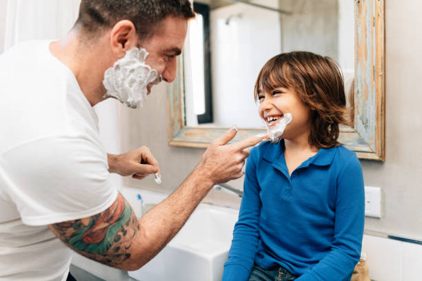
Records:
M50 44L50 52L74 74L81 91L94 106L104 100L104 72L110 67L110 56L103 48L100 37L95 44L83 43L77 31L71 30L66 37Z

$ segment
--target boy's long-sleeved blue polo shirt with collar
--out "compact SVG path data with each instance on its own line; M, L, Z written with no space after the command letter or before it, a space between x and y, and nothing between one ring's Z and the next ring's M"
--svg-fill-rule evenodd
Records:
M304 280L350 280L359 261L365 196L361 164L343 146L319 149L289 176L284 142L252 149L223 280L254 262Z

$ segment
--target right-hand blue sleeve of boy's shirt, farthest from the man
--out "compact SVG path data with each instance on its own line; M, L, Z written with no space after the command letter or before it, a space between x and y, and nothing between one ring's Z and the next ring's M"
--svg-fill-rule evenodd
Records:
M299 281L350 280L359 261L365 220L365 191L361 164L354 155L337 178L334 238L330 252Z

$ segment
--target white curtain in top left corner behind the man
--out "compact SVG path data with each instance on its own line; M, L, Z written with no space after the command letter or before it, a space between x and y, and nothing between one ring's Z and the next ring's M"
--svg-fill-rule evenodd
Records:
M60 39L76 21L81 0L7 1L4 49L32 39Z

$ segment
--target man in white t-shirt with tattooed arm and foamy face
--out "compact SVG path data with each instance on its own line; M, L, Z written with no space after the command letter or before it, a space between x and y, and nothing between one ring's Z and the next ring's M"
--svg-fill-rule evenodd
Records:
M0 56L0 280L66 280L70 249L139 269L213 185L242 175L244 149L262 139L225 145L234 127L139 220L108 180L140 179L159 164L147 147L106 154L92 106L112 96L138 107L154 84L171 83L192 17L188 0L82 0L64 39Z

